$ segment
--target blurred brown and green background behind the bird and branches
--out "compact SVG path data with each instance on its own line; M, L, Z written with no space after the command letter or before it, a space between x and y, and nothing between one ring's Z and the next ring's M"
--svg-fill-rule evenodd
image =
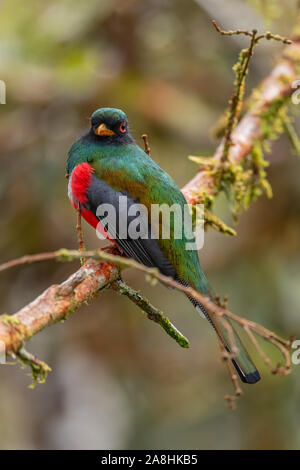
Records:
M69 147L98 107L122 108L138 142L179 186L196 172L189 154L210 155L211 129L232 92L232 65L246 40L211 25L289 35L296 1L3 0L0 4L1 261L76 247L67 198ZM282 46L257 47L247 93ZM299 123L296 123L299 127ZM235 313L300 338L299 159L283 136L268 169L274 198L241 216L237 237L206 233L200 259ZM232 224L225 199L218 215ZM84 224L89 248L99 246ZM14 313L78 263L43 263L2 273L1 313ZM300 366L244 387L235 412L217 340L180 293L126 279L161 307L191 341L183 350L127 299L107 291L28 348L52 368L34 390L16 366L0 367L0 448L278 449L300 447ZM268 349L269 351L269 349ZM274 361L276 352L269 351ZM257 356L254 353L254 357Z

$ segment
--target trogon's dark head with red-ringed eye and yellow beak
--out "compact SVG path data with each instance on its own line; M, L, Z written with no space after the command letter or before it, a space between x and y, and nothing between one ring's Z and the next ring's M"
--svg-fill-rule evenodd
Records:
M126 114L120 109L100 108L91 116L91 132L101 141L125 141L128 138Z

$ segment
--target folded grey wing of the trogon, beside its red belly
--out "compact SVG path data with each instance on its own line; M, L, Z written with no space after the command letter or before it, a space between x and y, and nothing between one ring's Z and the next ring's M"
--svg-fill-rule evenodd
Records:
M124 253L148 267L156 267L166 276L176 276L176 270L161 251L157 240L151 238L148 217L143 215L139 201L126 193L116 191L94 174L86 193L88 208ZM111 211L111 212L109 212ZM138 221L137 221L138 217ZM140 236L129 230L130 224L139 222ZM124 230L125 229L125 230Z

